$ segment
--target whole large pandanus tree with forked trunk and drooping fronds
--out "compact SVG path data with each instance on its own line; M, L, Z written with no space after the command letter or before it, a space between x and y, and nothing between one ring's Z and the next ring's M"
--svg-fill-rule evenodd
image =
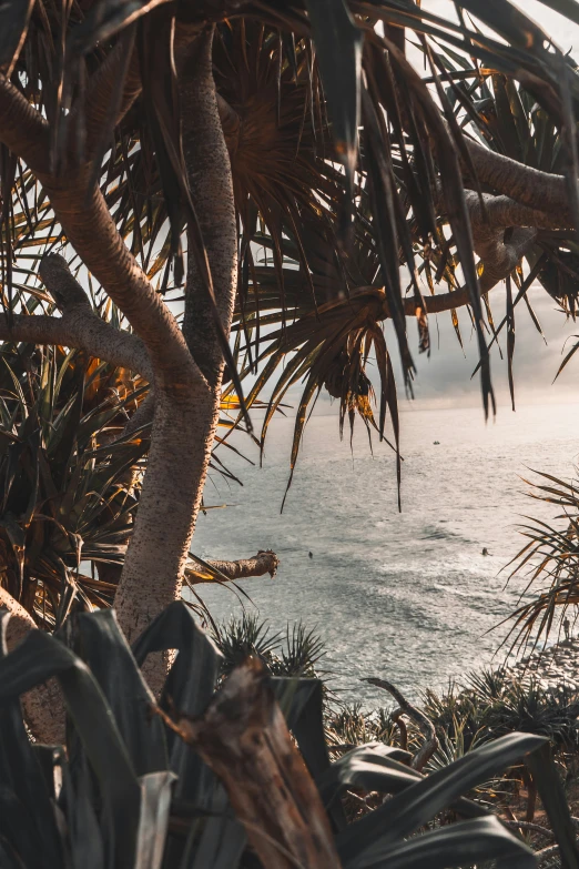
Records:
M579 22L577 3L548 6ZM507 282L509 365L515 306L536 279L575 313L573 62L507 0L456 9L454 21L412 0L0 4L0 336L16 355L14 390L30 383L31 347L37 358L74 351L82 383L96 360L149 385L146 401L125 406L124 433L116 418L115 437L95 445L103 473L121 447L138 447L123 474L146 455L142 485L129 486L131 523L114 529L122 574L94 578L92 598L88 585L71 592L70 559L99 560L79 534L61 588L40 595L53 612L73 593L80 607L114 598L131 641L181 595L224 400L251 432L251 406L274 378L263 445L305 378L292 469L322 388L339 400L342 425L357 413L385 438L389 412L398 455L386 320L412 390L407 320L425 352L428 314L456 322L468 305L488 414L488 344L502 327L490 290ZM407 59L408 31L426 79ZM45 449L55 424L19 413L30 421L12 431L14 466L31 438ZM80 444L72 437L70 454ZM40 469L38 486L2 525L19 565L0 589L12 641L42 620L30 583L48 580L22 569L30 553L16 531L39 504L51 515ZM275 568L273 554L265 562ZM145 664L155 691L170 657ZM47 736L50 721L37 725Z

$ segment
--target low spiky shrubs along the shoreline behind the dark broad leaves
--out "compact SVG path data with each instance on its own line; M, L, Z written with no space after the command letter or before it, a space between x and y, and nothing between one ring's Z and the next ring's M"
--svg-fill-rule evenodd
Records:
M416 755L424 744L424 735L412 717L393 716L392 701L374 709L362 703L343 703L333 688L332 673L321 669L323 640L301 624L287 627L282 637L266 622L244 613L217 627L216 643L225 657L223 673L251 654L260 657L272 675L324 677L324 729L331 755L366 742L383 742ZM521 731L547 737L565 781L577 777L579 691L569 684L549 689L534 675L521 677L502 667L484 669L467 674L446 690L426 690L418 710L431 721L438 740L426 766L428 771L448 766L486 742ZM477 787L476 794L477 799L500 809L528 787L526 768L518 765ZM535 805L529 802L527 814L534 811Z

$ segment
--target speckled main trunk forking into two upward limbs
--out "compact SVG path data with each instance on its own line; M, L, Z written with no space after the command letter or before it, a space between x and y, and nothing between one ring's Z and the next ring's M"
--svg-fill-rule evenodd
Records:
M180 87L191 194L206 244L221 325L228 334L237 277L235 206L212 73L212 37L211 29L190 44L180 44ZM150 360L148 380L154 391L151 448L115 598L119 623L131 641L181 594L219 418L223 357L214 311L190 256L184 336L126 249L102 194L96 188L89 191L92 166L54 175L47 160L47 121L30 111L9 82L0 88L0 110L7 108L2 99L11 118L19 121L17 130L10 124L2 128L2 140L8 139L29 162L67 239L126 316ZM22 128L28 130L27 123L30 135L19 137ZM191 240L189 247L191 251ZM39 325L34 317L33 326ZM58 326L62 330L62 321ZM60 337L57 341L60 343ZM123 353L125 350L123 342ZM143 669L155 693L163 685L166 667L167 660L160 657L145 663ZM48 720L45 724L48 732Z

